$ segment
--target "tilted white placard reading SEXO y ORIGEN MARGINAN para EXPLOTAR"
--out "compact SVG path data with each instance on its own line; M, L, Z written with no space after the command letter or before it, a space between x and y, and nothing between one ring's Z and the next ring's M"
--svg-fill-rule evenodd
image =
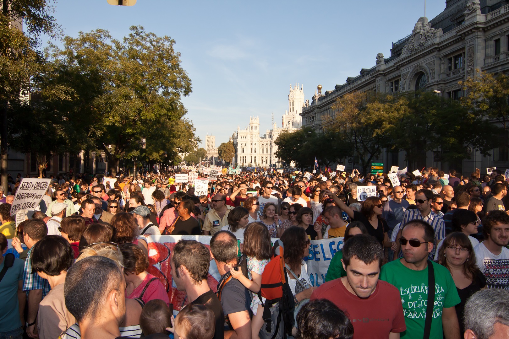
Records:
M11 206L11 215L21 209L34 209L49 188L51 179L21 179Z

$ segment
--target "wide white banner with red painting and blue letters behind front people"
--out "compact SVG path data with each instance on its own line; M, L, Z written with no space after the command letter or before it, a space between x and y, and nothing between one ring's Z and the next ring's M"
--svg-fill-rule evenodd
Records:
M209 247L211 236L206 235L151 235L149 241L149 262L151 266L148 271L157 276L166 287L168 297L174 304L175 310L179 311L185 305L185 293L178 291L172 278L169 257L175 244L181 240L196 240ZM276 238L272 239L274 242ZM343 248L344 238L330 238L323 240L311 240L309 254L304 260L307 264L309 281L313 286L320 286L325 282L325 276L329 263L334 254ZM242 239L241 239L242 242ZM210 262L208 284L212 291L216 292L217 283L220 279L214 260Z

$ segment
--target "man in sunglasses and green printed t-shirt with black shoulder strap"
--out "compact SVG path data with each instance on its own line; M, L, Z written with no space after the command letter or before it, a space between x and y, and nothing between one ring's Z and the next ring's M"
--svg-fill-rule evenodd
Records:
M444 266L428 261L433 251L434 238L433 228L425 221L413 220L404 224L401 237L398 239L403 258L382 266L380 279L394 285L401 293L407 326L406 331L401 333L403 339L423 337L429 291L429 263L433 265L435 280L435 298L431 314L433 319L429 337L446 339L460 337L455 305L460 303L461 299L453 277Z

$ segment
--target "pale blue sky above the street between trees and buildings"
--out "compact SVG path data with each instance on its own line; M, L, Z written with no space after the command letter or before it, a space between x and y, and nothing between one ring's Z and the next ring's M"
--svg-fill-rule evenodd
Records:
M375 66L377 53L389 57L391 43L424 15L424 1L59 0L54 16L72 37L104 28L122 39L131 25L172 37L192 81L187 118L203 143L215 135L217 147L249 116L260 116L261 131L271 113L280 126L290 84L303 84L311 101L318 84L331 90ZM426 16L444 8L445 0L427 0Z

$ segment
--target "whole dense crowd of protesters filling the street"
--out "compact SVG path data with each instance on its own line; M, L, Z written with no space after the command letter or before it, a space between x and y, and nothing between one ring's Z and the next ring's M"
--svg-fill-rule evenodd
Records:
M61 175L18 225L10 210L22 177L9 177L0 338L272 337L260 294L271 238L284 248L296 338L509 336L508 178L429 168L393 186L385 173L334 174L222 174L197 196L171 173L113 184ZM364 186L376 195L362 199ZM173 284L187 295L176 317L149 273L147 238L160 234L212 236L210 249L179 240L171 251ZM336 237L343 249L312 286L310 240Z

